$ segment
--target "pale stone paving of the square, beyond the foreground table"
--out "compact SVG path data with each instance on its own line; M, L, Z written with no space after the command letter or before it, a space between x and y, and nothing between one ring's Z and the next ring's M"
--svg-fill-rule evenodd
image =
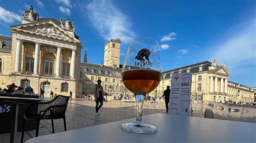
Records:
M193 105L194 106L194 105ZM195 106L195 107L198 107ZM203 117L200 108L193 108L194 117ZM95 116L95 102L87 101L85 99L73 99L69 102L66 110L66 126L67 130L75 130L78 128L94 126L99 124L110 123L112 121L124 120L136 117L136 103L135 102L122 102L110 101L104 102L104 105L99 110L100 116ZM151 115L153 113L165 113L165 103L144 103L143 116ZM218 117L222 119L230 119L228 117ZM238 119L230 119L238 120ZM245 121L247 119L244 119ZM252 119L248 119L254 120ZM63 119L54 120L55 132L63 132L64 124ZM251 122L251 121L250 121ZM41 120L39 126L39 136L51 134L52 126L51 120ZM26 131L24 141L35 137L36 130ZM10 133L0 134L0 143L9 142ZM18 132L17 142L20 142L21 132Z

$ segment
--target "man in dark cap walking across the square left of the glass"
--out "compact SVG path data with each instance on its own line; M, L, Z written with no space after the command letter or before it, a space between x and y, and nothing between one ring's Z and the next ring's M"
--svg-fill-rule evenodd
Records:
M103 91L103 87L102 85L100 85L102 83L101 80L98 80L97 81L98 84L95 85L95 94L94 94L94 97L95 97L95 102L96 102L96 113L95 115L100 115L99 114L99 109L103 106L103 96L104 96L104 91ZM100 105L99 105L100 103Z

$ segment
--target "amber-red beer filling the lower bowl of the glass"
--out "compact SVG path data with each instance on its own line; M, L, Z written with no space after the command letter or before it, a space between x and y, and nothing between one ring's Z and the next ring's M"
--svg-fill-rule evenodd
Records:
M147 94L154 90L161 80L161 72L153 69L131 69L123 71L125 87L134 94Z

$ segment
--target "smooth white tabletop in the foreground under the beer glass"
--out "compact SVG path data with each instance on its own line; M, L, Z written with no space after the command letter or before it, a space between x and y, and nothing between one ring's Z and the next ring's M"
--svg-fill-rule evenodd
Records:
M123 131L122 123L135 118L32 138L30 142L256 142L256 124L240 121L165 114L143 116L158 132L138 134Z

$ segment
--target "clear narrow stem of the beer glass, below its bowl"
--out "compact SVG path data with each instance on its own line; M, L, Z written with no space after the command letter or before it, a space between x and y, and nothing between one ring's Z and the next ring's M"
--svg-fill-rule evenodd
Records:
M145 95L143 94L136 94L135 98L136 98L136 105L137 105L137 115L136 115L136 121L138 123L142 123L142 108L143 108L143 103L144 103L144 99L145 99Z

